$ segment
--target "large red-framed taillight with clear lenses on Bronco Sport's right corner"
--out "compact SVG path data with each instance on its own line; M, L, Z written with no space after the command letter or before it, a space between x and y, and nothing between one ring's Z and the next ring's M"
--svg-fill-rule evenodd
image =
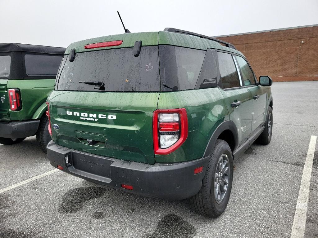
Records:
M185 108L158 109L153 115L153 140L156 155L168 155L178 149L188 136Z

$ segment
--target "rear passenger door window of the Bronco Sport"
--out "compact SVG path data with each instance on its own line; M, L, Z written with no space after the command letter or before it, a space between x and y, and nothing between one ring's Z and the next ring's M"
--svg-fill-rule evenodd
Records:
M240 87L239 75L231 54L218 52L218 65L220 70L220 87L222 89Z

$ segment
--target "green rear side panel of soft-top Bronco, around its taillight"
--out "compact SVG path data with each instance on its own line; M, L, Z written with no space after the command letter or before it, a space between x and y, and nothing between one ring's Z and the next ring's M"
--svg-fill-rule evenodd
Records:
M38 113L35 117L33 115L45 103L46 98L54 89L54 82L55 79L8 80L7 88L20 89L22 99L22 109L17 112L10 111L10 120L22 121L40 118L43 114Z

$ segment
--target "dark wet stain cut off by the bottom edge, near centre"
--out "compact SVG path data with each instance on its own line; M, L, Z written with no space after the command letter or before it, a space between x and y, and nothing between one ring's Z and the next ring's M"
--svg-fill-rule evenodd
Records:
M189 222L180 216L169 214L164 216L151 234L143 235L143 238L192 238L197 230Z

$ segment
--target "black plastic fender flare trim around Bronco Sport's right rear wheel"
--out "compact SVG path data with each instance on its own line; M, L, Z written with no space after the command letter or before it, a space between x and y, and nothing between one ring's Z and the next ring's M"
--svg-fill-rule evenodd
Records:
M211 138L210 138L210 140L205 148L203 156L208 156L211 154L212 148L213 148L215 142L217 141L217 139L221 135L221 133L225 130L230 130L234 136L234 149L233 149L233 151L235 151L235 149L238 147L238 144L239 144L238 131L237 131L235 123L228 120L228 121L222 122L215 129L215 131L213 132L213 134L212 134L212 136L211 136Z

